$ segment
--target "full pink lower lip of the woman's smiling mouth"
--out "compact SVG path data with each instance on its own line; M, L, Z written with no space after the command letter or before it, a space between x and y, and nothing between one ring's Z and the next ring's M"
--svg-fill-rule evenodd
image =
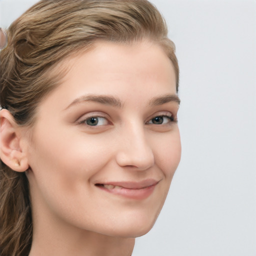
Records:
M140 189L130 189L130 188L125 188L125 187L108 189L103 186L98 186L98 188L100 188L106 192L116 194L116 195L121 195L121 196L128 197L131 199L136 199L136 200L142 200L142 199L147 198L153 192L155 186L156 186L156 184L147 186L144 188L140 188Z

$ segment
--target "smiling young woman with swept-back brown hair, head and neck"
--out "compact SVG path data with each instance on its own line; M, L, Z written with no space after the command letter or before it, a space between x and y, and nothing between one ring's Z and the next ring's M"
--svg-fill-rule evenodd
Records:
M178 65L146 0L42 0L1 51L1 255L131 255L180 159Z

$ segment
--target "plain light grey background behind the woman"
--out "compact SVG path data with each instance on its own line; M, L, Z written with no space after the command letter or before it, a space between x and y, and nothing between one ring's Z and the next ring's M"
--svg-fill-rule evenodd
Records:
M34 0L0 0L7 26ZM182 158L133 256L256 256L256 1L152 0L180 66Z

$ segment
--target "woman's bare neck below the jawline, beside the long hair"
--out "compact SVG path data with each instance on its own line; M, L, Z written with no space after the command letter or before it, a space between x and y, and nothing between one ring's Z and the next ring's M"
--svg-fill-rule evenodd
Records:
M42 214L33 213L33 237L28 256L130 256L132 253L134 238L78 228L55 218L43 208Z

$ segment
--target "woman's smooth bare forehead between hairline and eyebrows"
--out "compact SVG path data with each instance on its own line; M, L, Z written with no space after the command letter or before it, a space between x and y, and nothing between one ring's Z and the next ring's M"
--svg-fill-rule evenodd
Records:
M116 44L101 41L88 51L66 58L52 73L66 70L47 98L66 104L85 93L117 95L121 100L176 93L173 65L161 46L141 41Z

